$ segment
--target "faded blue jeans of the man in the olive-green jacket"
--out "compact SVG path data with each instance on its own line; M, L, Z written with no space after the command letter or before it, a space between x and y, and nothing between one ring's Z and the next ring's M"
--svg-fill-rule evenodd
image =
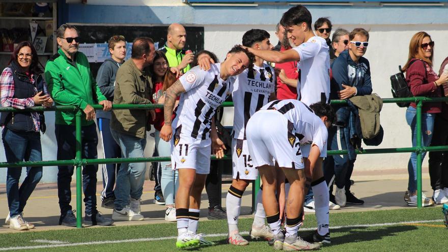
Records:
M143 157L146 146L146 138L117 132L110 129L112 136L121 148L121 155L128 157ZM115 208L121 210L129 205L129 195L132 199L139 200L143 193L145 182L146 163L122 163L118 170L115 185Z

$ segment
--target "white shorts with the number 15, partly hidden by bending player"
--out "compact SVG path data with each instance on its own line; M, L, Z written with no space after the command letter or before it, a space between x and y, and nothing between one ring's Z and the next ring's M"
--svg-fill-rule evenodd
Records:
M232 138L232 177L236 179L256 180L258 170L252 163L247 140Z

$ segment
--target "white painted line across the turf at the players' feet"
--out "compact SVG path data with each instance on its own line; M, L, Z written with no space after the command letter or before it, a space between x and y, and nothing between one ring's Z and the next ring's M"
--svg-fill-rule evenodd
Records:
M403 224L427 223L427 222L437 222L437 221L442 222L444 220L443 219L415 220L415 221L387 222L387 223L376 223L376 224L365 224L365 225L335 226L335 227L330 227L330 229L337 230L337 229L347 229L347 228L349 229L349 228L385 227L385 226L396 226L396 225L403 225ZM300 231L313 231L313 230L316 230L316 228L300 229ZM240 234L248 235L249 232L240 232ZM204 235L204 236L205 237L220 237L220 236L227 236L227 233L225 233L225 234L209 234L209 235ZM72 246L80 246L80 245L99 245L99 244L114 244L114 243L117 244L117 243L142 242L142 241L162 241L162 240L170 240L170 239L176 239L176 238L177 238L177 236L169 236L169 237L139 238L139 239L114 240L114 241L88 241L88 242L48 244L48 245L36 245L36 246L0 247L0 251L18 250L18 249L72 247Z

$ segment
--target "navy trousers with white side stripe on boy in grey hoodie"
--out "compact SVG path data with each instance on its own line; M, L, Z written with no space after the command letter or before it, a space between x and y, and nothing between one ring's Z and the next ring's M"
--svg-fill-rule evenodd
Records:
M110 119L98 118L98 130L101 134L101 146L103 147L104 158L121 157L120 146L115 142L114 137L110 134ZM119 163L103 164L103 190L101 191L101 200L114 197L115 177L120 169Z

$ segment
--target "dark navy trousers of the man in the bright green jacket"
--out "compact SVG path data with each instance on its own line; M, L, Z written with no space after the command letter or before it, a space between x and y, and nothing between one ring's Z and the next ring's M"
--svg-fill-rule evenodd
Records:
M56 142L58 143L58 160L74 159L76 155L76 131L74 125L54 125ZM97 159L98 134L96 125L81 127L81 157ZM72 211L70 201L72 192L70 183L72 182L74 166L58 166L58 196L61 215L65 216ZM84 203L86 204L86 214L96 214L96 173L98 165L88 164L82 167L82 190L84 191Z

